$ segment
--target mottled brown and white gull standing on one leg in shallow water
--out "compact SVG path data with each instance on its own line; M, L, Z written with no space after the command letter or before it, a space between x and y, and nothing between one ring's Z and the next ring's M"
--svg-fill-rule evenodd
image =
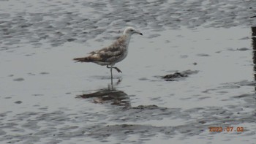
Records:
M116 69L117 72L121 72L118 67L113 67L116 63L122 61L127 57L129 40L132 34L143 35L140 31L135 30L133 27L127 27L124 33L119 37L112 45L95 50L89 53L89 56L82 58L74 58L76 62L92 62L101 66L107 66L111 73L111 83L113 79L112 69Z

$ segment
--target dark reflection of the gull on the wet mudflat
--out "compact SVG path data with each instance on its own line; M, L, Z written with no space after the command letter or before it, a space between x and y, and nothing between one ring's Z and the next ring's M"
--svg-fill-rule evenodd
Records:
M94 103L110 103L111 105L130 107L129 96L124 91L114 88L119 83L121 83L121 79L118 79L114 84L109 84L107 88L98 89L96 92L90 94L80 94L76 98L93 98Z

